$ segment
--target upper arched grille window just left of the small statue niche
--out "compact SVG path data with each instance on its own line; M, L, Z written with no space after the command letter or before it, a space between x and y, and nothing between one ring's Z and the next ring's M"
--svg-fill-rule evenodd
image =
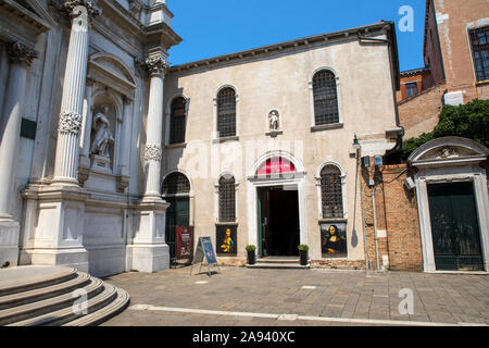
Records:
M220 138L236 136L236 92L230 87L217 95L217 133Z

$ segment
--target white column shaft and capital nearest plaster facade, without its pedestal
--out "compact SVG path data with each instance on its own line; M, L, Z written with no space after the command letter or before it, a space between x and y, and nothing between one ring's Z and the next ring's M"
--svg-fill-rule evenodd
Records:
M163 82L167 65L162 57L154 57L146 60L146 67L151 79L145 148L145 200L161 200Z

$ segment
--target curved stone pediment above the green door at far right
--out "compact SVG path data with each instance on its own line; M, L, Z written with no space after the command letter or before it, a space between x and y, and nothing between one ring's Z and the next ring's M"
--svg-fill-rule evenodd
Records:
M472 139L444 137L426 142L409 158L413 166L460 165L485 161L489 149Z

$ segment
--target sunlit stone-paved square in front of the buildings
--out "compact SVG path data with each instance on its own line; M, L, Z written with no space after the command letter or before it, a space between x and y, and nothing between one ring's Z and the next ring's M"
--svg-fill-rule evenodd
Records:
M196 269L190 275L189 268L108 277L106 282L129 293L130 306L103 325L489 324L487 275L244 268L221 271L212 277L196 274ZM399 294L404 288L413 291L413 314L399 312L403 300Z

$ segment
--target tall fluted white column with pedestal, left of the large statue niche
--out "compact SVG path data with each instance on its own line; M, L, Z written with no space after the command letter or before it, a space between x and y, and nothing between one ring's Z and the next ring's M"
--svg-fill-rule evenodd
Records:
M23 264L67 265L89 271L84 246L85 201L78 185L79 133L88 60L89 20L100 14L92 2L64 2L72 20L52 185L29 185L24 190L26 216L36 216L24 228ZM87 124L88 127L88 124ZM26 217L27 219L27 217Z

